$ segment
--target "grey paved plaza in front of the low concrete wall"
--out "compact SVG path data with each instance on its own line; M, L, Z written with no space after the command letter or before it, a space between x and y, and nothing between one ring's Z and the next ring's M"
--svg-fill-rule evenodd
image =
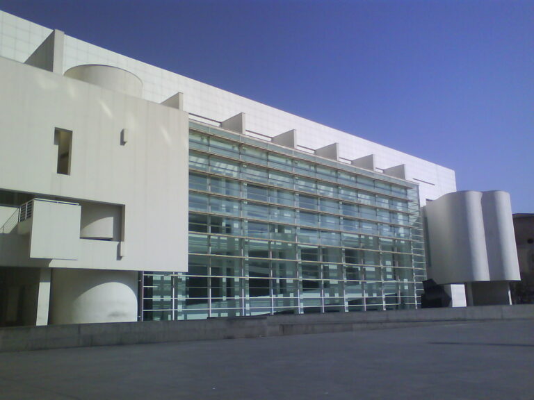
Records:
M534 320L0 353L0 399L534 399Z

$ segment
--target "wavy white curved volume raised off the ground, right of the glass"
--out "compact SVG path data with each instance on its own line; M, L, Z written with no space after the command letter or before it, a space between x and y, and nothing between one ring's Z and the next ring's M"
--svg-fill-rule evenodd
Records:
M519 279L508 193L453 192L425 210L429 278L439 284Z

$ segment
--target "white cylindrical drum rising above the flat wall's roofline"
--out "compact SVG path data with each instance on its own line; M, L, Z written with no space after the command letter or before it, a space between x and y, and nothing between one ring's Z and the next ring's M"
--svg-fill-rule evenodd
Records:
M68 69L65 76L130 96L141 97L143 95L143 82L136 75L118 67L78 65Z

